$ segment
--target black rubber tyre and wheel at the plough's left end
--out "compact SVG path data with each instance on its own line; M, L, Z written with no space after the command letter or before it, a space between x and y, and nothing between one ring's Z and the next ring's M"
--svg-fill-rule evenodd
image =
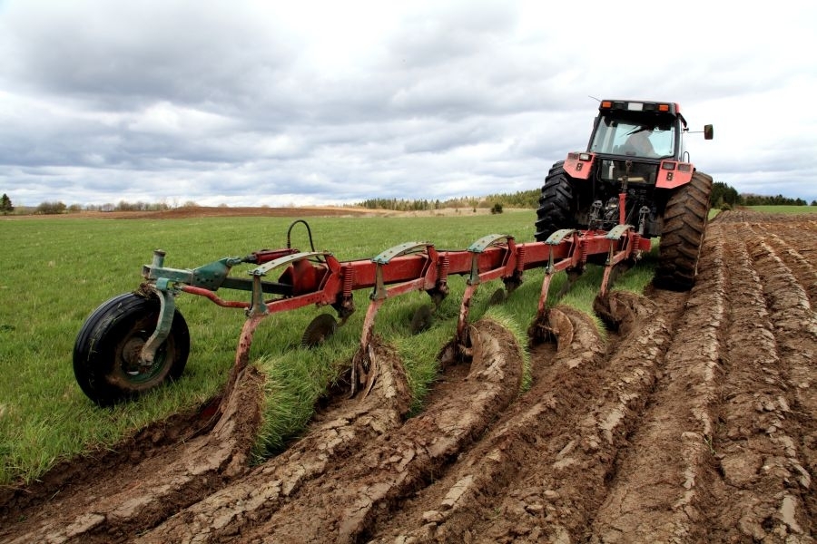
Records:
M126 293L103 303L85 320L74 343L74 376L94 403L129 400L182 375L190 332L178 310L153 364L139 364L142 346L159 322L160 306L156 297Z

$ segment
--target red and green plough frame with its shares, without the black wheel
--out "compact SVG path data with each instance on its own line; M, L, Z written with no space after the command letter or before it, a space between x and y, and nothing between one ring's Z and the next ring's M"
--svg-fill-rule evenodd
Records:
M547 323L547 296L557 272L567 272L570 281L566 287L569 287L584 270L588 260L604 263L605 275L601 287L604 295L609 289L615 267L634 262L642 251L649 248L649 239L642 238L632 226L622 224L609 231L565 228L557 230L544 242L524 244L517 244L514 237L506 234L491 234L477 239L461 251L438 251L430 242L406 242L370 259L344 262L328 251L315 251L312 248L301 252L288 247L263 249L246 257L224 257L193 269L176 269L165 267L165 253L156 250L152 263L143 267L146 280L143 291L158 296L162 306L159 323L143 346L141 357L149 362L155 356L157 346L167 336L170 321L176 312L173 297L180 293L204 296L218 306L242 308L246 312L247 321L241 328L233 370L238 373L248 364L252 336L267 316L303 306L332 306L340 317L340 324L331 316L322 315L316 317L304 333L304 345L315 345L331 335L338 325L343 325L354 312L353 292L369 288L369 307L363 320L359 350L352 364L354 393L360 385L369 389L377 374L376 364L371 361L371 340L375 317L387 298L412 291L426 291L436 309L448 295L448 276L466 277L455 346L458 355L468 357L468 315L471 300L481 284L502 279L506 293L498 296L497 300L504 300L507 294L521 285L525 270L544 267L545 277L534 322L534 336L543 337L547 332L547 325L543 325ZM241 264L254 265L249 278L231 277L231 268ZM278 277L267 279L273 271L278 271ZM248 291L249 300L221 298L216 295L220 288ZM430 313L428 308L421 308L412 321L429 318Z

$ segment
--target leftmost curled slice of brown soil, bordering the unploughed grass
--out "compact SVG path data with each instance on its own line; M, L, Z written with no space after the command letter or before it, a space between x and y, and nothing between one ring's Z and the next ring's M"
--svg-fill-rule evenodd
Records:
M212 432L123 467L127 485L97 480L55 493L24 521L6 524L0 536L14 544L123 541L223 487L249 468L262 383L261 374L248 369Z

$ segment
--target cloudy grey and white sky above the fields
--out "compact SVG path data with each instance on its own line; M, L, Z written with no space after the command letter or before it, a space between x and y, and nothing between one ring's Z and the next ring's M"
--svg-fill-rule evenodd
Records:
M721 6L723 5L723 7ZM732 7L734 6L734 7ZM817 199L817 4L0 0L15 205L289 206L541 186L594 98L679 102L695 166Z

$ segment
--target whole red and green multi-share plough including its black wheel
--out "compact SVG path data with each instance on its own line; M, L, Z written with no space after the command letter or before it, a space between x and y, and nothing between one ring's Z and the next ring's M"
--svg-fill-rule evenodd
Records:
M623 219L609 230L559 229L541 242L517 243L513 236L491 234L467 249L444 251L430 242L406 242L376 257L351 261L316 251L310 227L302 219L290 225L286 248L224 257L192 269L166 267L165 252L156 250L151 264L143 267L141 287L107 301L85 321L74 345L74 374L83 392L100 405L132 398L179 377L190 349L187 325L175 305L175 298L182 293L203 296L218 306L240 308L246 313L231 374L236 376L249 363L252 337L266 317L304 306L330 306L338 318L320 314L302 337L303 345L317 345L355 311L353 292L370 289L359 349L351 365L351 393L361 387L368 391L377 374L369 345L375 317L386 300L425 291L436 308L448 296L448 277L465 277L467 286L453 345L458 356L467 358L468 312L477 288L501 279L504 290L497 293L505 298L522 283L526 270L544 267L536 318L530 328L534 338L541 340L548 335L546 299L557 272L564 270L576 277L588 262L603 265L604 295L617 265L633 264L650 250L650 239L624 224ZM297 224L309 232L309 251L291 248L290 234ZM251 266L246 276L231 275L233 267L239 265ZM218 295L221 290L249 296L225 299ZM430 315L431 310L424 306L413 324L421 328Z

